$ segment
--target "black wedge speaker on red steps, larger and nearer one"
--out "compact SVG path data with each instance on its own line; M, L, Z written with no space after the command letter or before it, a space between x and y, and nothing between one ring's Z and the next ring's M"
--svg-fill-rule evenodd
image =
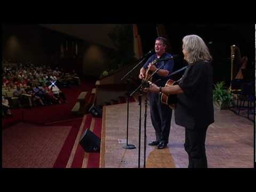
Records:
M89 129L84 132L79 144L86 152L100 151L100 138Z

